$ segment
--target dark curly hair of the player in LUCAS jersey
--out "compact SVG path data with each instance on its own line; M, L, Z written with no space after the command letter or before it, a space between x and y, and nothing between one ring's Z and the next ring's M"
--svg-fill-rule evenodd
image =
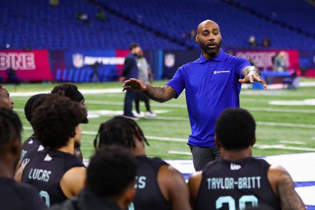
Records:
M84 109L78 102L49 94L33 111L31 124L43 146L58 149L76 135L75 129L84 117Z

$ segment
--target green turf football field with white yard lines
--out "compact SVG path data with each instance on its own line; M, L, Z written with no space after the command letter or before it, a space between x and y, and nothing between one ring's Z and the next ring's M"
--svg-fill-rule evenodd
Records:
M302 82L315 82L315 79L301 79ZM163 85L165 81L154 82ZM4 85L10 94L14 92L46 91L53 84L21 84L17 87ZM79 90L120 88L118 82L78 83ZM100 115L100 110L107 110L97 118L89 119L89 124L83 124L85 132L96 132L100 123L110 119L108 113L123 109L124 93L84 94L89 115ZM12 96L14 110L19 114L24 129L23 141L32 134L30 123L24 115L24 105L28 96ZM253 148L254 156L277 155L297 152L315 151L315 87L302 87L297 90L251 90L242 89L241 107L248 108L257 122L257 145ZM281 105L290 102L291 105ZM141 110L145 111L143 102ZM152 110L158 110L156 119L141 118L137 123L142 128L150 143L146 147L147 155L169 159L191 159L186 139L190 134L190 124L186 109L185 94L178 99L172 99L160 104L151 101ZM104 116L105 115L105 116ZM106 116L107 115L107 116ZM94 134L82 135L84 158L89 158L93 152ZM169 151L187 154L171 154Z

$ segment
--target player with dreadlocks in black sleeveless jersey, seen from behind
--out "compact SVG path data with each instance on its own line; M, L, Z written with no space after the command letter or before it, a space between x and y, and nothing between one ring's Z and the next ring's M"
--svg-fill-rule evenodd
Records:
M129 210L191 209L184 177L161 158L146 156L144 147L149 144L134 120L115 116L102 123L94 140L95 148L98 136L99 148L122 145L131 150L138 161L136 195Z

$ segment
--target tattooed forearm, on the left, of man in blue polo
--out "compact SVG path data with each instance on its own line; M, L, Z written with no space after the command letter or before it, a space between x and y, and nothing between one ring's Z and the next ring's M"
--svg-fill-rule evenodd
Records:
M152 100L163 103L176 97L176 91L169 85L163 87L148 85L147 89L143 93Z

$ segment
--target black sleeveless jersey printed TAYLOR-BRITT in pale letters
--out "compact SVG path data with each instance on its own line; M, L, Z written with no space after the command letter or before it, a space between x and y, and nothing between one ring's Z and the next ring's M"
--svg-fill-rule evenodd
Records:
M202 170L195 209L242 210L259 205L281 209L267 178L269 167L265 160L253 157L208 163Z

